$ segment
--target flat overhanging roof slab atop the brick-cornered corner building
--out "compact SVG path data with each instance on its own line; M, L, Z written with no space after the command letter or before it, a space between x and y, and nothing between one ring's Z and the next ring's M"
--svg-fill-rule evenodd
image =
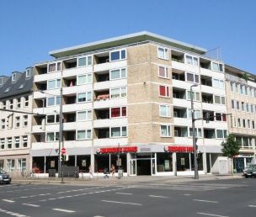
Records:
M52 50L49 52L49 54L56 58L60 58L64 56L72 56L72 55L82 54L82 53L86 53L93 50L102 50L109 47L128 45L128 44L147 41L147 40L152 40L158 43L170 45L183 50L189 50L191 52L195 52L200 55L205 54L205 52L207 51L204 48L201 48L195 45L189 45L179 40L173 40L159 34L153 34L151 32L142 31L135 34L125 34L123 36L114 37L107 40L98 40L98 41L86 43L83 45L76 45L72 47L63 48L60 50Z

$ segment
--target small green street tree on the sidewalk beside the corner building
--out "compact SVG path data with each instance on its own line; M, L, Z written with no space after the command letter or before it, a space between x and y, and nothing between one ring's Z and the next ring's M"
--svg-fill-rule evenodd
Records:
M233 157L238 155L241 144L235 140L233 135L228 135L226 141L222 141L221 146L223 156L227 156L231 159L230 163L233 175Z

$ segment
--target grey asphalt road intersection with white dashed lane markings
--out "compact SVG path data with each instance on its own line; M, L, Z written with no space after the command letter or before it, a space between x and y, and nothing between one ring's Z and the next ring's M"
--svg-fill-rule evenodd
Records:
M0 216L256 216L256 178L106 184L0 185Z

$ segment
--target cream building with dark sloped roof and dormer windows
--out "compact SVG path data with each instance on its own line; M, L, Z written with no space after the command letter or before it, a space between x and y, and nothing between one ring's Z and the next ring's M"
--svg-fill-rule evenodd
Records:
M25 113L32 112L33 73L28 67L0 77L0 169L13 176L29 170L31 115Z

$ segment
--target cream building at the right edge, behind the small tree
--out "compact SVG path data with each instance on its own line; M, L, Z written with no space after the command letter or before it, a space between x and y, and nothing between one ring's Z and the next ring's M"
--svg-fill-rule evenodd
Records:
M244 167L255 162L256 77L247 71L226 65L227 109L232 114L229 133L241 143L239 155L234 158L234 168L243 172Z

